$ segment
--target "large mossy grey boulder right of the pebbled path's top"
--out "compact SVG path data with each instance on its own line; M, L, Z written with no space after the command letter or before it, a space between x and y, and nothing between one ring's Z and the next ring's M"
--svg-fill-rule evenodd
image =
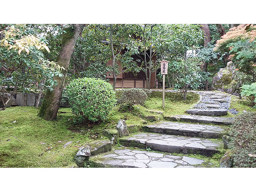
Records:
M220 68L219 72L213 77L212 90L219 90L232 95L239 95L238 90L235 88L238 72L235 70L232 61L227 63L226 68Z

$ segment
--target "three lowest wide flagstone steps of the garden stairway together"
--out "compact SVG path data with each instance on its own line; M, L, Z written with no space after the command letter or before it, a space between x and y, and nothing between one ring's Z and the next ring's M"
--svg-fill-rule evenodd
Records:
M187 154L211 157L219 153L223 142L218 139L226 129L162 122L145 126L143 131L120 138L122 148L92 156L90 162L96 167L209 167L204 158L188 157Z

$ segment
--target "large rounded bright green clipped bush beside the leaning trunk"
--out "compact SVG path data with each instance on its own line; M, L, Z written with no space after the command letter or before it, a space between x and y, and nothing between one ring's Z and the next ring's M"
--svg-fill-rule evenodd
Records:
M104 121L116 104L112 85L101 79L75 79L66 86L66 95L80 122Z

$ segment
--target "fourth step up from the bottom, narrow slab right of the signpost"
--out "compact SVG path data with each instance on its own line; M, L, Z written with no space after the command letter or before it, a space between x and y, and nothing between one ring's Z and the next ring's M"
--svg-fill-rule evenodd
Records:
M225 125L231 125L234 120L233 117L210 117L210 116L199 116L199 115L164 116L164 119L169 121L185 121L185 122L213 123L213 124L225 124Z

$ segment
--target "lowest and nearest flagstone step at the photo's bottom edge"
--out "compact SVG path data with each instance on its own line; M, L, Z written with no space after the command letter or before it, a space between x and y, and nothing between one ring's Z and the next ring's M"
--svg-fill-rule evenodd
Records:
M173 167L211 167L203 159L187 156L174 156L165 153L133 149L117 149L90 157L90 163L96 167L140 167L140 168L173 168Z

